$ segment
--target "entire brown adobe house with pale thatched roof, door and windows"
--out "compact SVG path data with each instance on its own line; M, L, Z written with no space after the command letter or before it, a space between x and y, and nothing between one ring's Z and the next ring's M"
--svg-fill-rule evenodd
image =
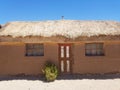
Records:
M0 75L38 75L46 61L64 74L120 72L120 22L9 22L0 29Z

